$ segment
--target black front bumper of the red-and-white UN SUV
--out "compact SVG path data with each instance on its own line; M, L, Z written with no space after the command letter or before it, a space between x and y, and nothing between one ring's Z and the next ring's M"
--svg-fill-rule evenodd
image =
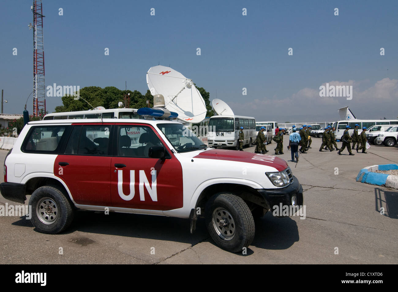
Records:
M295 205L299 207L298 210L302 208L304 202L302 186L295 176L293 176L293 182L285 188L261 189L258 192L267 202L269 210L273 210L274 206L279 208L280 204L282 206L291 206L292 196L296 196Z

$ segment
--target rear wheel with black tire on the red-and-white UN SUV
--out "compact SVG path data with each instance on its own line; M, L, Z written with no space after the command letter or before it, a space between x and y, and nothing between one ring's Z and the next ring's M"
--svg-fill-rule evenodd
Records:
M54 186L37 188L30 197L29 205L32 206L30 220L41 233L60 233L73 221L72 204L66 195ZM44 212L45 206L48 206L48 212Z

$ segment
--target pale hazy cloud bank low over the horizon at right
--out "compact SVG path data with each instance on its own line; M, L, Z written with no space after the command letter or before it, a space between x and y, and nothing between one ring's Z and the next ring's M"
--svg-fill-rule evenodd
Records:
M260 120L277 120L283 122L291 117L317 120L338 119L337 109L350 106L357 118L380 118L397 116L396 103L398 101L398 80L384 78L373 86L360 91L361 81L349 80L329 81L334 86L353 86L353 99L345 97L320 97L318 88L302 88L291 96L278 98L264 97L250 102L228 102L236 114L254 116Z

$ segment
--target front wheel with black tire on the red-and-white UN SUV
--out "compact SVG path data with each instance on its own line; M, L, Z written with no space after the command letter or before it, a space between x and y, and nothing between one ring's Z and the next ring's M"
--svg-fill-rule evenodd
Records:
M234 194L218 193L211 197L205 207L205 218L211 238L227 251L242 252L254 239L252 212L244 200ZM226 225L221 227L219 218Z

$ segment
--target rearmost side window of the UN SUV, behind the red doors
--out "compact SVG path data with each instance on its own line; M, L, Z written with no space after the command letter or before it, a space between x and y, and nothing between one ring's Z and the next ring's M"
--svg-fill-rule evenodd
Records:
M21 150L29 153L58 153L66 127L59 125L32 127Z

